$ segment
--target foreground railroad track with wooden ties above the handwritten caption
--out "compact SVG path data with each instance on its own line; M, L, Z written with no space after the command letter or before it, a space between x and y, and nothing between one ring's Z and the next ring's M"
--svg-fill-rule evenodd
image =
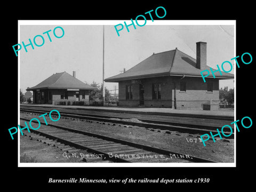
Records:
M20 118L22 121L30 119ZM22 122L24 123L24 122ZM35 122L38 123L38 122ZM102 161L122 163L174 163L174 162L196 162L217 163L209 159L199 158L174 151L141 145L138 143L106 137L104 135L71 129L58 125L41 122L38 130L30 130L25 133L31 138L48 142L49 145L60 146L63 151L73 153L78 150L86 150L89 154L98 155ZM64 146L63 146L64 145ZM66 146L66 147L65 147ZM97 157L98 158L98 157ZM90 162L89 158L84 161ZM99 159L98 159L99 161Z

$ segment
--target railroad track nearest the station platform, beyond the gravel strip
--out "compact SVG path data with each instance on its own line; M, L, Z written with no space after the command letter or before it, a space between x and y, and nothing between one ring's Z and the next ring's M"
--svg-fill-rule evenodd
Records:
M49 113L47 110L41 109L25 109L20 108L20 111L27 112L27 113ZM164 121L151 121L150 119L138 119L140 122L133 122L133 121L124 121L115 117L111 116L102 116L102 115L95 115L95 114L83 114L83 113L71 113L71 112L64 112L60 111L61 117L69 117L69 118L78 118L78 119L90 119L92 121L99 121L99 122L108 122L108 123L115 123L115 124L125 124L125 125L132 125L132 126L140 126L146 127L151 129L162 129L162 130L169 130L169 131L179 131L183 133L192 133L192 134L209 134L211 131L214 134L217 134L217 126L207 126L207 125L194 125L190 123L171 123L171 122L164 122ZM128 118L126 118L128 119ZM146 121L146 122L145 122ZM207 124L207 122L206 122ZM225 125L225 124L224 124ZM227 135L230 134L229 128L223 129L223 132ZM229 138L234 138L234 127L233 133L230 135Z

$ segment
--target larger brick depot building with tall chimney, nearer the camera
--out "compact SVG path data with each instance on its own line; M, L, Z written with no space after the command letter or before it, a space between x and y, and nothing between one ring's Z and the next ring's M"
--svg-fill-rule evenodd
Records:
M219 71L205 78L206 43L196 43L196 59L178 50L153 53L122 74L106 78L118 82L119 106L166 107L175 109L219 108L219 80L234 75ZM214 109L215 108L215 109ZM206 109L209 110L209 109Z

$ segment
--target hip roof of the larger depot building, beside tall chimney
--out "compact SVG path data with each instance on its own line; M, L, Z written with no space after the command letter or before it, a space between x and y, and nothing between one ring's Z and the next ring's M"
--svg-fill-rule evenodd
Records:
M175 49L153 54L147 59L138 63L138 65L135 65L131 69L125 71L125 73L115 75L104 80L106 82L118 82L137 78L177 75L201 77L200 72L206 69L210 71L209 66L202 66L201 69L196 68L196 59L178 49ZM216 78L220 79L234 78L233 74L222 71L221 73L222 75L219 73L215 73L214 75ZM208 77L213 77L211 72Z

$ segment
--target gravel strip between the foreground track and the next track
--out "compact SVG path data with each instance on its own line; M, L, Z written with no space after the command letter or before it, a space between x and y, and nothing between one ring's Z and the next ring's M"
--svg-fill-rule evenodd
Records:
M38 115L20 113L20 117L31 119L38 118ZM54 118L54 117L53 117ZM38 118L42 122L44 119ZM234 162L234 139L222 139L216 142L208 140L200 142L200 134L180 133L177 131L148 129L138 126L113 126L103 125L99 123L89 123L86 121L78 121L72 119L60 118L59 121L53 122L46 116L46 121L49 124L55 124L65 127L70 127L77 130L97 133L123 139L131 142L140 143L143 145L153 146L166 150L175 151L177 153L197 156L205 159L210 159L216 162L233 163ZM132 119L131 121L136 121ZM27 122L29 124L29 122ZM34 123L32 123L33 126ZM22 125L22 124L21 124ZM38 124L34 124L35 127Z

